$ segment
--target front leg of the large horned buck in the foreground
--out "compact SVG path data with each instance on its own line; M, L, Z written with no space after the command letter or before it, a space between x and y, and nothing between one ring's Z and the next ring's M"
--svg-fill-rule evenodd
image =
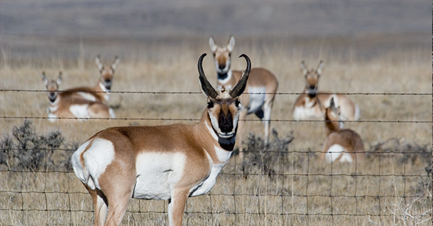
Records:
M168 203L168 224L170 226L181 226L186 199L189 188L174 188L171 191L170 203Z

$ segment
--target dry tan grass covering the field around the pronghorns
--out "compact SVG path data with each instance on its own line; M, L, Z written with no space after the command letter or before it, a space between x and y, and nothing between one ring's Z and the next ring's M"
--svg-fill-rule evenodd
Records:
M241 43L241 42L238 42ZM412 48L407 51L391 49L379 54L360 57L357 49L350 53L326 49L326 43L316 43L314 49L304 43L299 46L270 43L269 45L238 45L235 55L245 52L253 66L273 71L280 81L279 92L301 92L304 80L299 70L300 60L317 66L325 61L320 90L337 92L432 92L430 50ZM365 45L365 44L364 44ZM118 66L113 90L129 91L192 91L198 92L197 58L208 52L206 44L155 45L151 49L137 47L126 55ZM41 72L56 76L64 72L60 88L96 83L98 71L91 64L81 68L75 61L39 60L14 64L4 62L0 68L0 88L43 90ZM111 60L107 56L106 60ZM87 60L87 62L92 62ZM243 60L233 59L233 68L243 68ZM214 77L211 57L204 61L211 81ZM351 98L362 111L362 120L430 121L431 96L354 95ZM291 119L293 95L278 95L272 118ZM0 92L0 116L46 116L47 97L44 92ZM118 118L199 118L205 108L203 95L112 94L111 105ZM188 108L186 108L188 106ZM249 116L254 118L254 116ZM8 133L23 120L0 119L1 133ZM71 121L49 123L32 120L39 132L60 129L67 142L83 142L100 129L117 125L157 125L173 121ZM192 123L192 122L185 122ZM428 225L431 216L431 187L428 177L392 175L426 175L428 162L417 155L405 161L403 154L370 154L357 164L326 164L317 153L325 140L324 123L274 122L271 127L280 137L292 134L293 141L283 164L276 166L275 175L243 176L241 162L232 158L225 166L210 194L188 199L184 221L191 225L371 225L398 224ZM367 150L391 138L399 145L425 147L431 150L430 123L346 123L364 139ZM263 134L260 122L248 122L246 131ZM244 135L245 140L247 134ZM375 146L376 145L376 146ZM417 146L418 145L418 146ZM386 147L401 149L398 145ZM382 148L385 149L385 148ZM301 151L301 152L296 152ZM404 150L413 151L413 150ZM70 153L69 153L70 154ZM266 154L266 153L264 153ZM380 156L380 157L379 157ZM278 161L278 162L281 162ZM236 175L232 175L236 173ZM329 174L333 176L329 176ZM368 175L389 175L383 177ZM358 175L358 176L356 176ZM13 173L0 172L0 224L89 225L93 222L91 200L73 173ZM427 184L426 184L427 183ZM431 186L431 185L430 185ZM36 192L35 192L36 191ZM17 193L18 192L18 193ZM22 192L22 193L21 193ZM44 193L45 192L45 193ZM65 193L69 192L69 193ZM78 192L78 193L76 193ZM83 192L82 194L80 192ZM356 198L355 198L356 196ZM403 198L406 196L406 199ZM410 198L410 196L421 196ZM124 217L125 225L156 225L167 223L165 201L133 200ZM331 209L332 204L332 209ZM8 209L14 209L10 211ZM21 211L24 209L25 211ZM45 211L45 210L49 211ZM15 211L16 210L16 211ZM43 211L32 211L43 210ZM65 211L58 211L65 210ZM67 210L73 210L69 212ZM76 211L78 210L78 211ZM79 211L79 210L85 210ZM331 216L331 211L333 216ZM140 212L140 213L139 213ZM157 212L157 213L153 213ZM205 213L203 213L205 212ZM209 214L214 212L214 214ZM307 215L308 212L308 215ZM236 214L234 214L236 213ZM349 214L345 215L345 214ZM359 216L350 216L355 214ZM375 215L386 216L375 216Z

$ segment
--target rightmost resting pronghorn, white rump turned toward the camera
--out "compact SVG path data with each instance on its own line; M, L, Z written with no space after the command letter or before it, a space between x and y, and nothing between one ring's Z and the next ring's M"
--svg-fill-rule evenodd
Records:
M365 150L361 137L352 129L342 129L340 106L331 98L325 110L325 125L328 138L324 144L322 158L327 162L354 162L364 160Z

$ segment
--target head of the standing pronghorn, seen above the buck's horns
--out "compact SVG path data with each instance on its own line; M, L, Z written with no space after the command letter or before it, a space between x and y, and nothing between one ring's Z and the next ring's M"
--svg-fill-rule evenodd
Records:
M230 36L230 40L225 46L215 45L214 37L209 38L210 51L214 54L216 73L219 75L227 74L230 70L230 60L234 47L234 37Z

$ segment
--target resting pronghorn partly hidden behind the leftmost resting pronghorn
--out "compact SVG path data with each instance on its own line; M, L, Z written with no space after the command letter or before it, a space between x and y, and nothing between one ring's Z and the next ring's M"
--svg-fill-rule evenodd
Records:
M119 58L116 55L111 66L101 64L100 55L96 57L96 66L99 70L99 80L96 86L81 86L76 88L69 88L65 91L74 92L75 95L80 95L82 98L89 101L100 101L102 103L107 103L109 100L109 94L111 90L111 84L113 82L113 75L116 66L119 63Z

